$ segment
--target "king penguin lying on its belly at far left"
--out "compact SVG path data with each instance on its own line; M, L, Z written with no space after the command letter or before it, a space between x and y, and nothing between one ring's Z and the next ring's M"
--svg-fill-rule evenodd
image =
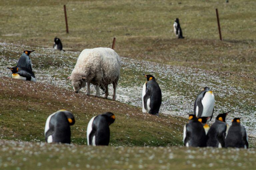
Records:
M27 67L7 67L12 71L12 78L36 82L35 74Z

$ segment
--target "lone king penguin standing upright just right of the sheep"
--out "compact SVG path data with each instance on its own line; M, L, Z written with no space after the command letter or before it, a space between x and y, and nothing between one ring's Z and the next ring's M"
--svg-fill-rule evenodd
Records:
M162 103L162 92L152 75L145 75L147 82L142 89L142 112L159 116L159 109Z

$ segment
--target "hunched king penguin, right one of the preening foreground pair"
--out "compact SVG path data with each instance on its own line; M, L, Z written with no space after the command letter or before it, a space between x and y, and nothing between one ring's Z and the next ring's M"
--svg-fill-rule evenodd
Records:
M110 139L109 125L114 123L116 117L111 112L94 116L87 126L87 145L108 145Z

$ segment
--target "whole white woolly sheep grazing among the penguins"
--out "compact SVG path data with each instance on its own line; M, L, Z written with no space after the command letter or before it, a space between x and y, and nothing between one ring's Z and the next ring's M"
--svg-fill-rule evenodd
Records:
M76 62L69 79L76 93L87 83L87 95L90 95L90 83L96 86L96 96L100 97L100 89L108 97L108 85L113 84L113 100L116 100L116 87L120 76L120 57L111 48L84 49Z

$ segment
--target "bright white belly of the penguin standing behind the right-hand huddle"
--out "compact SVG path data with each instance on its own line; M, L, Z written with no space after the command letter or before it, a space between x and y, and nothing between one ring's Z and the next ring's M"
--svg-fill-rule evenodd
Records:
M204 98L202 99L203 113L201 117L212 116L214 108L214 95L212 93L206 92Z

